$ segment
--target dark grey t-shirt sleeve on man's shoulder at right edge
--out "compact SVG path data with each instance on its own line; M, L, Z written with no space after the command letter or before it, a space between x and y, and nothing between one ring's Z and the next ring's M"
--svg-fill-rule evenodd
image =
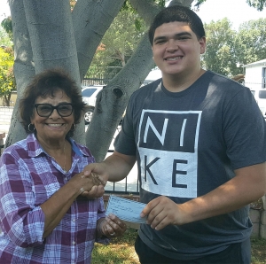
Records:
M223 136L233 169L266 160L265 120L249 89L241 89L226 106Z

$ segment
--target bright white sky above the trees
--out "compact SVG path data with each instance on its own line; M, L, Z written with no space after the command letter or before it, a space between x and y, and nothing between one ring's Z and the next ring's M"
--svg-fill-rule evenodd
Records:
M192 6L197 2L197 0L194 0ZM232 27L238 30L239 25L245 21L266 18L266 8L262 12L256 11L246 4L246 0L207 0L207 2L201 4L200 11L197 14L204 23L227 17L231 20ZM10 15L10 10L7 0L0 0L0 21L8 15Z

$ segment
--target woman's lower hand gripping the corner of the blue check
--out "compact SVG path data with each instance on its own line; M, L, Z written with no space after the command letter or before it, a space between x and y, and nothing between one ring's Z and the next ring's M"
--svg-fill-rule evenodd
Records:
M107 215L99 225L102 235L109 238L120 237L127 229L127 225L114 214Z

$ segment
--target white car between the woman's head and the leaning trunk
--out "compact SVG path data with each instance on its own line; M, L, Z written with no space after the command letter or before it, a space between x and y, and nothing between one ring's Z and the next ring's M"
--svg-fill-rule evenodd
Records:
M86 113L84 114L85 124L89 124L95 105L96 105L96 97L98 92L103 89L104 86L83 86L82 87L82 99L83 102L87 105Z

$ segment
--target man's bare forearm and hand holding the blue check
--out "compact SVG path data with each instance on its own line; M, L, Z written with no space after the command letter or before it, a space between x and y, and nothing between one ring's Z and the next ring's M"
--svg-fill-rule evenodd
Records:
M166 197L153 199L145 206L142 216L153 229L163 229L169 224L182 225L212 216L227 214L246 206L266 192L266 163L235 170L230 181L184 204L175 204Z

